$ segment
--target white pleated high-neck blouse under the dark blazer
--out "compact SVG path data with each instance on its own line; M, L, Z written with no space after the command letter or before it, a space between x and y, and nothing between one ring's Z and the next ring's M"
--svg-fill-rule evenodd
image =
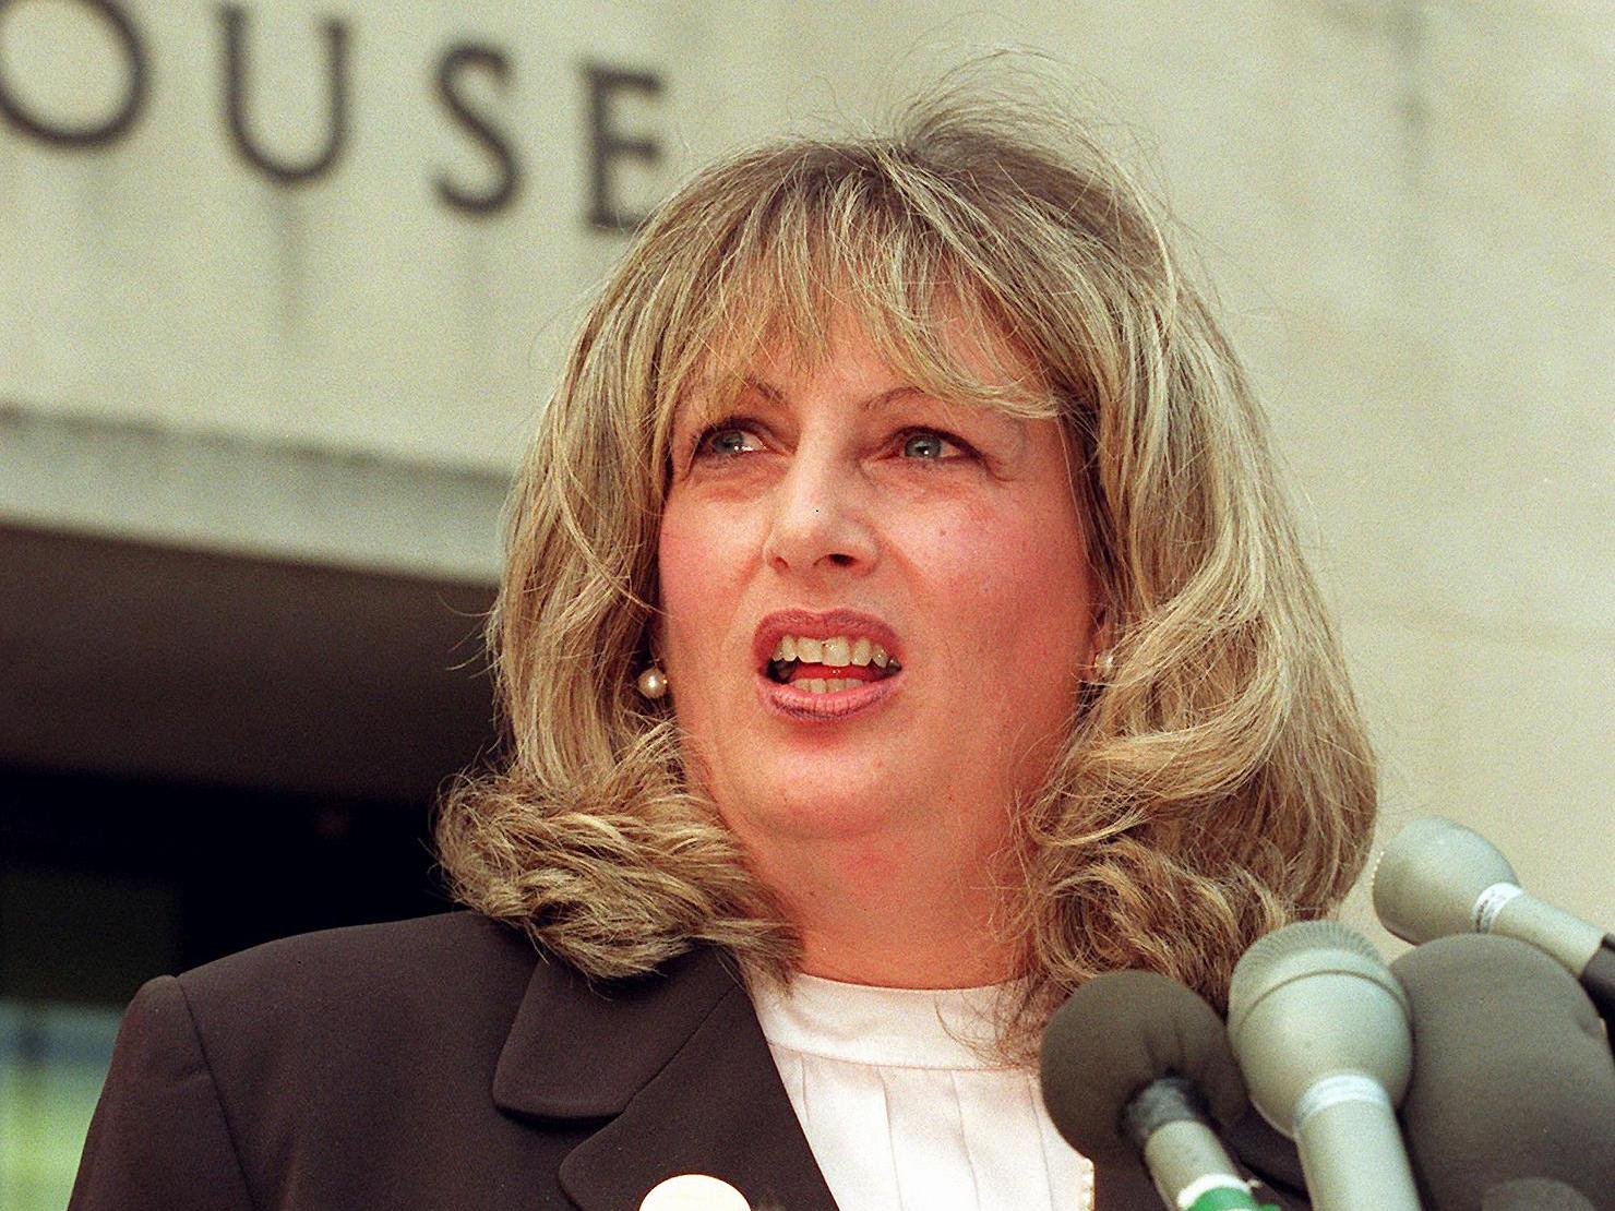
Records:
M971 1046L998 988L917 991L798 975L753 988L762 1035L841 1211L1087 1211L1093 1166L1037 1074Z

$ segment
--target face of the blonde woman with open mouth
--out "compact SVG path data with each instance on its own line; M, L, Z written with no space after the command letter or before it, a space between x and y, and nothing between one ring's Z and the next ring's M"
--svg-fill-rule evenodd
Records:
M903 838L987 861L1093 657L1061 430L930 397L835 331L822 365L761 358L732 409L675 415L657 554L673 709L766 869ZM992 373L980 350L1006 350L974 337L959 354Z

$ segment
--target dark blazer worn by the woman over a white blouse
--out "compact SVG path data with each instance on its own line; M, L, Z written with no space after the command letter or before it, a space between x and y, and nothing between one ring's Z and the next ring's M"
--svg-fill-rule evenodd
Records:
M727 956L596 988L459 912L147 983L69 1208L635 1211L682 1172L835 1208ZM1161 1206L1137 1166L1097 1190L1100 1211Z

